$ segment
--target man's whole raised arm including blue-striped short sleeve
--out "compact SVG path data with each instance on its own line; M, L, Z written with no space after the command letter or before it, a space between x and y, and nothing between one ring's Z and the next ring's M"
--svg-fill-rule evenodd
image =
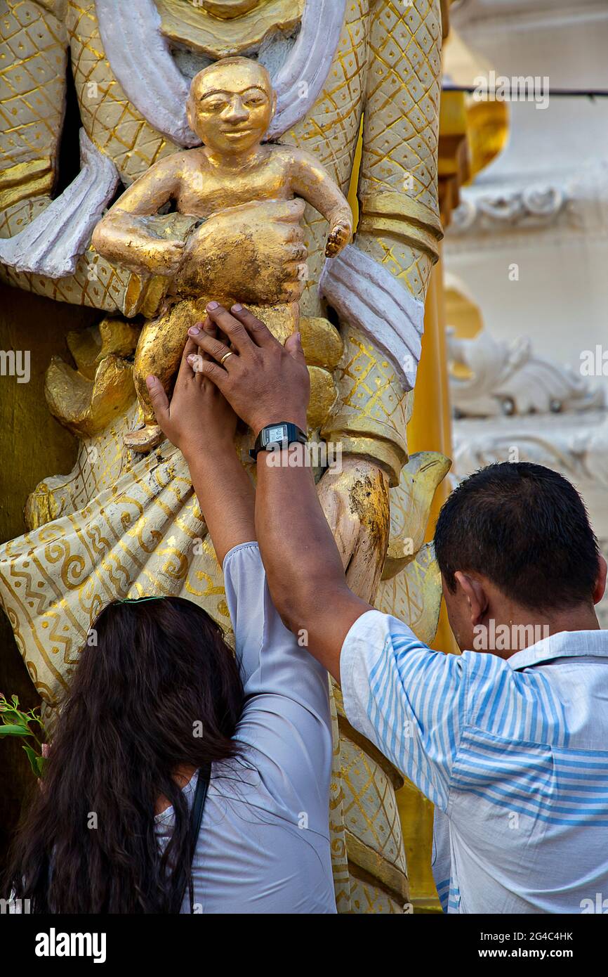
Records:
M304 428L309 383L299 337L282 347L238 305L231 314L217 303L208 311L232 350L207 334L196 342L213 357L203 363L205 374L234 410L256 433L280 421ZM222 365L227 352L233 355ZM354 728L445 811L467 721L470 670L479 666L483 687L487 662L432 652L402 621L355 597L310 471L275 466L264 452L258 468L256 520L277 610L292 631L308 632L310 654L341 681ZM495 670L509 671L507 662L486 658Z

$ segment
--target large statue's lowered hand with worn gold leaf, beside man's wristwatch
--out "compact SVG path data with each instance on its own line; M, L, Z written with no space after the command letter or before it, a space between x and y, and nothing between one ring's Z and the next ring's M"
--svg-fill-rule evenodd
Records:
M388 480L365 458L346 455L342 472L328 469L318 486L350 589L373 603L385 564L389 531Z

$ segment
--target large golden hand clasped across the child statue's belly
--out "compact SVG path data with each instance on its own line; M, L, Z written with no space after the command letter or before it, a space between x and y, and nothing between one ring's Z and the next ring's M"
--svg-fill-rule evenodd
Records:
M174 292L223 304L298 301L306 259L303 214L301 199L254 201L213 214L190 234Z

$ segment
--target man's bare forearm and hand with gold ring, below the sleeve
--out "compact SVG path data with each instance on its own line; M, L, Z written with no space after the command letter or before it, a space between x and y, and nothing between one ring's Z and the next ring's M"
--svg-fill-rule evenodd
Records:
M218 306L209 315L231 342L234 355L221 365L228 347L208 333L193 337L214 358L201 363L205 375L255 434L280 421L305 430L309 380L299 337L281 346L262 322L240 307L230 314ZM302 453L299 446L291 451ZM307 641L310 654L340 681L346 633L370 606L346 585L310 469L304 463L274 467L266 452L258 459L256 529L273 603L290 630Z

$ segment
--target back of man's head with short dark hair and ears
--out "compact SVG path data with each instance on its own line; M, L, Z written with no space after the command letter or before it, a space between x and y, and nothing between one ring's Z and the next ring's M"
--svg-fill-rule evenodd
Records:
M476 472L441 509L434 545L461 649L479 647L475 638L483 634L491 593L513 628L522 623L513 615L530 618L535 633L539 627L552 632L598 627L593 611L601 560L597 540L581 496L557 472L529 462ZM494 633L498 637L496 625ZM505 632L506 647L489 650L504 651L504 658L523 651L527 645L517 644L518 633L514 630L515 640L507 642Z

